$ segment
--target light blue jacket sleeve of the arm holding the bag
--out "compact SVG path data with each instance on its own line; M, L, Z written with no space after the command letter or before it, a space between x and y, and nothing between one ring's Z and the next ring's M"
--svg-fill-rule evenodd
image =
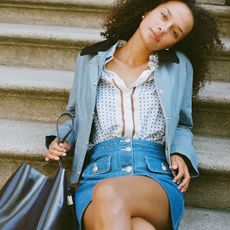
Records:
M77 115L76 115L75 107L76 107L76 89L77 89L78 77L79 77L79 72L78 72L79 71L79 68L78 68L79 63L80 63L80 55L78 55L78 57L77 57L77 61L76 61L76 65L75 65L75 71L74 71L74 82L73 82L72 89L70 91L69 100L68 100L68 104L67 104L67 107L66 107L66 112L71 113L75 117L75 119L74 119L75 122L77 121L77 119L76 119ZM65 134L70 129L70 126L71 126L71 121L66 121L65 123L63 123L63 124L61 124L59 126L60 138L63 138L65 136ZM57 137L57 131L56 130L51 131L45 137L47 149L49 148L50 143L56 137ZM71 145L71 152L72 152L73 149L74 149L75 143L76 143L74 129L69 134L69 136L67 137L66 141Z

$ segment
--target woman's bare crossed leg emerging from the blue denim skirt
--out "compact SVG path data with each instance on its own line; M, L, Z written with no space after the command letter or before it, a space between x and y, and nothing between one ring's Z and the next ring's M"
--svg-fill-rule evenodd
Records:
M138 230L140 225L147 230L149 224L165 230L170 225L168 198L157 182L145 176L105 179L95 186L84 224L86 230Z

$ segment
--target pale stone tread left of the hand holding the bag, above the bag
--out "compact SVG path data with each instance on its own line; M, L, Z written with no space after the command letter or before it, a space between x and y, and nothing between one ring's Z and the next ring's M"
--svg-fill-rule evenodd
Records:
M1 158L41 159L46 151L45 135L55 124L0 119Z

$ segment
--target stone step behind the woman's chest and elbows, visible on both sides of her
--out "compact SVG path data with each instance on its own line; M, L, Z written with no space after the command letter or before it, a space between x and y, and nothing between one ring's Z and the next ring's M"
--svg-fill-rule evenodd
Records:
M0 66L0 118L53 121L65 110L74 73ZM230 83L211 82L194 98L194 132L230 137Z

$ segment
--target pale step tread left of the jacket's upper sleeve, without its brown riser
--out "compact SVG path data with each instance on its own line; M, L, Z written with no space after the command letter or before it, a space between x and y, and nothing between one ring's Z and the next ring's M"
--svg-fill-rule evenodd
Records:
M72 71L0 66L0 91L68 95L73 75Z

